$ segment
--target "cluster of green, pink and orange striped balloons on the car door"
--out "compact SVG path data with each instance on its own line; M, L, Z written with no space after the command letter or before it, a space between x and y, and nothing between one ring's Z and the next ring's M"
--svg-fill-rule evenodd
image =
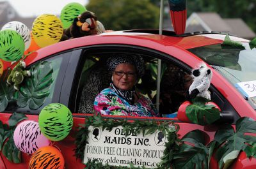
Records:
M29 160L29 169L40 166L64 168L64 158L60 150L51 145L51 141L63 140L72 126L72 113L60 103L44 107L38 122L20 122L13 133L13 140L20 151L33 154Z

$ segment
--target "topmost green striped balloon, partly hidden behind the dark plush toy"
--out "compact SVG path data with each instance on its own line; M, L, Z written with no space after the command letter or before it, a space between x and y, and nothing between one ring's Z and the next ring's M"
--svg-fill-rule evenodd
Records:
M74 18L86 11L86 8L79 3L69 3L61 10L60 19L63 28L67 29L71 26Z

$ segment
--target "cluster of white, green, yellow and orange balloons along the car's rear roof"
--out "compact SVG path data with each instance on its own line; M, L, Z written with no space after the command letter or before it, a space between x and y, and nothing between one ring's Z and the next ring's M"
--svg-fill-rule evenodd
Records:
M61 10L60 18L51 14L38 16L32 26L32 31L21 22L12 21L5 24L0 31L0 75L10 66L5 62L19 61L22 55L60 41L63 29L67 29L74 18L86 11L79 3L68 3ZM3 70L2 70L3 69Z

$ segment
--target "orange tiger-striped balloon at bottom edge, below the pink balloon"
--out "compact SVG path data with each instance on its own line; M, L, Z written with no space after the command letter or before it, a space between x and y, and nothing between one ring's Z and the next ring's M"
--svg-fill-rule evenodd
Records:
M61 152L52 146L42 147L29 160L29 169L63 169L64 158Z

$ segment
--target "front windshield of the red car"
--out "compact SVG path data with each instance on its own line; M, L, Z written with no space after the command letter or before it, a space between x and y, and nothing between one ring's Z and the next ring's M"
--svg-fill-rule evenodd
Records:
M221 44L208 45L191 48L189 52L210 64L236 86L239 82L256 80L256 48L251 48L248 43L243 43L243 46L244 48ZM248 101L256 109L256 97L248 98Z

